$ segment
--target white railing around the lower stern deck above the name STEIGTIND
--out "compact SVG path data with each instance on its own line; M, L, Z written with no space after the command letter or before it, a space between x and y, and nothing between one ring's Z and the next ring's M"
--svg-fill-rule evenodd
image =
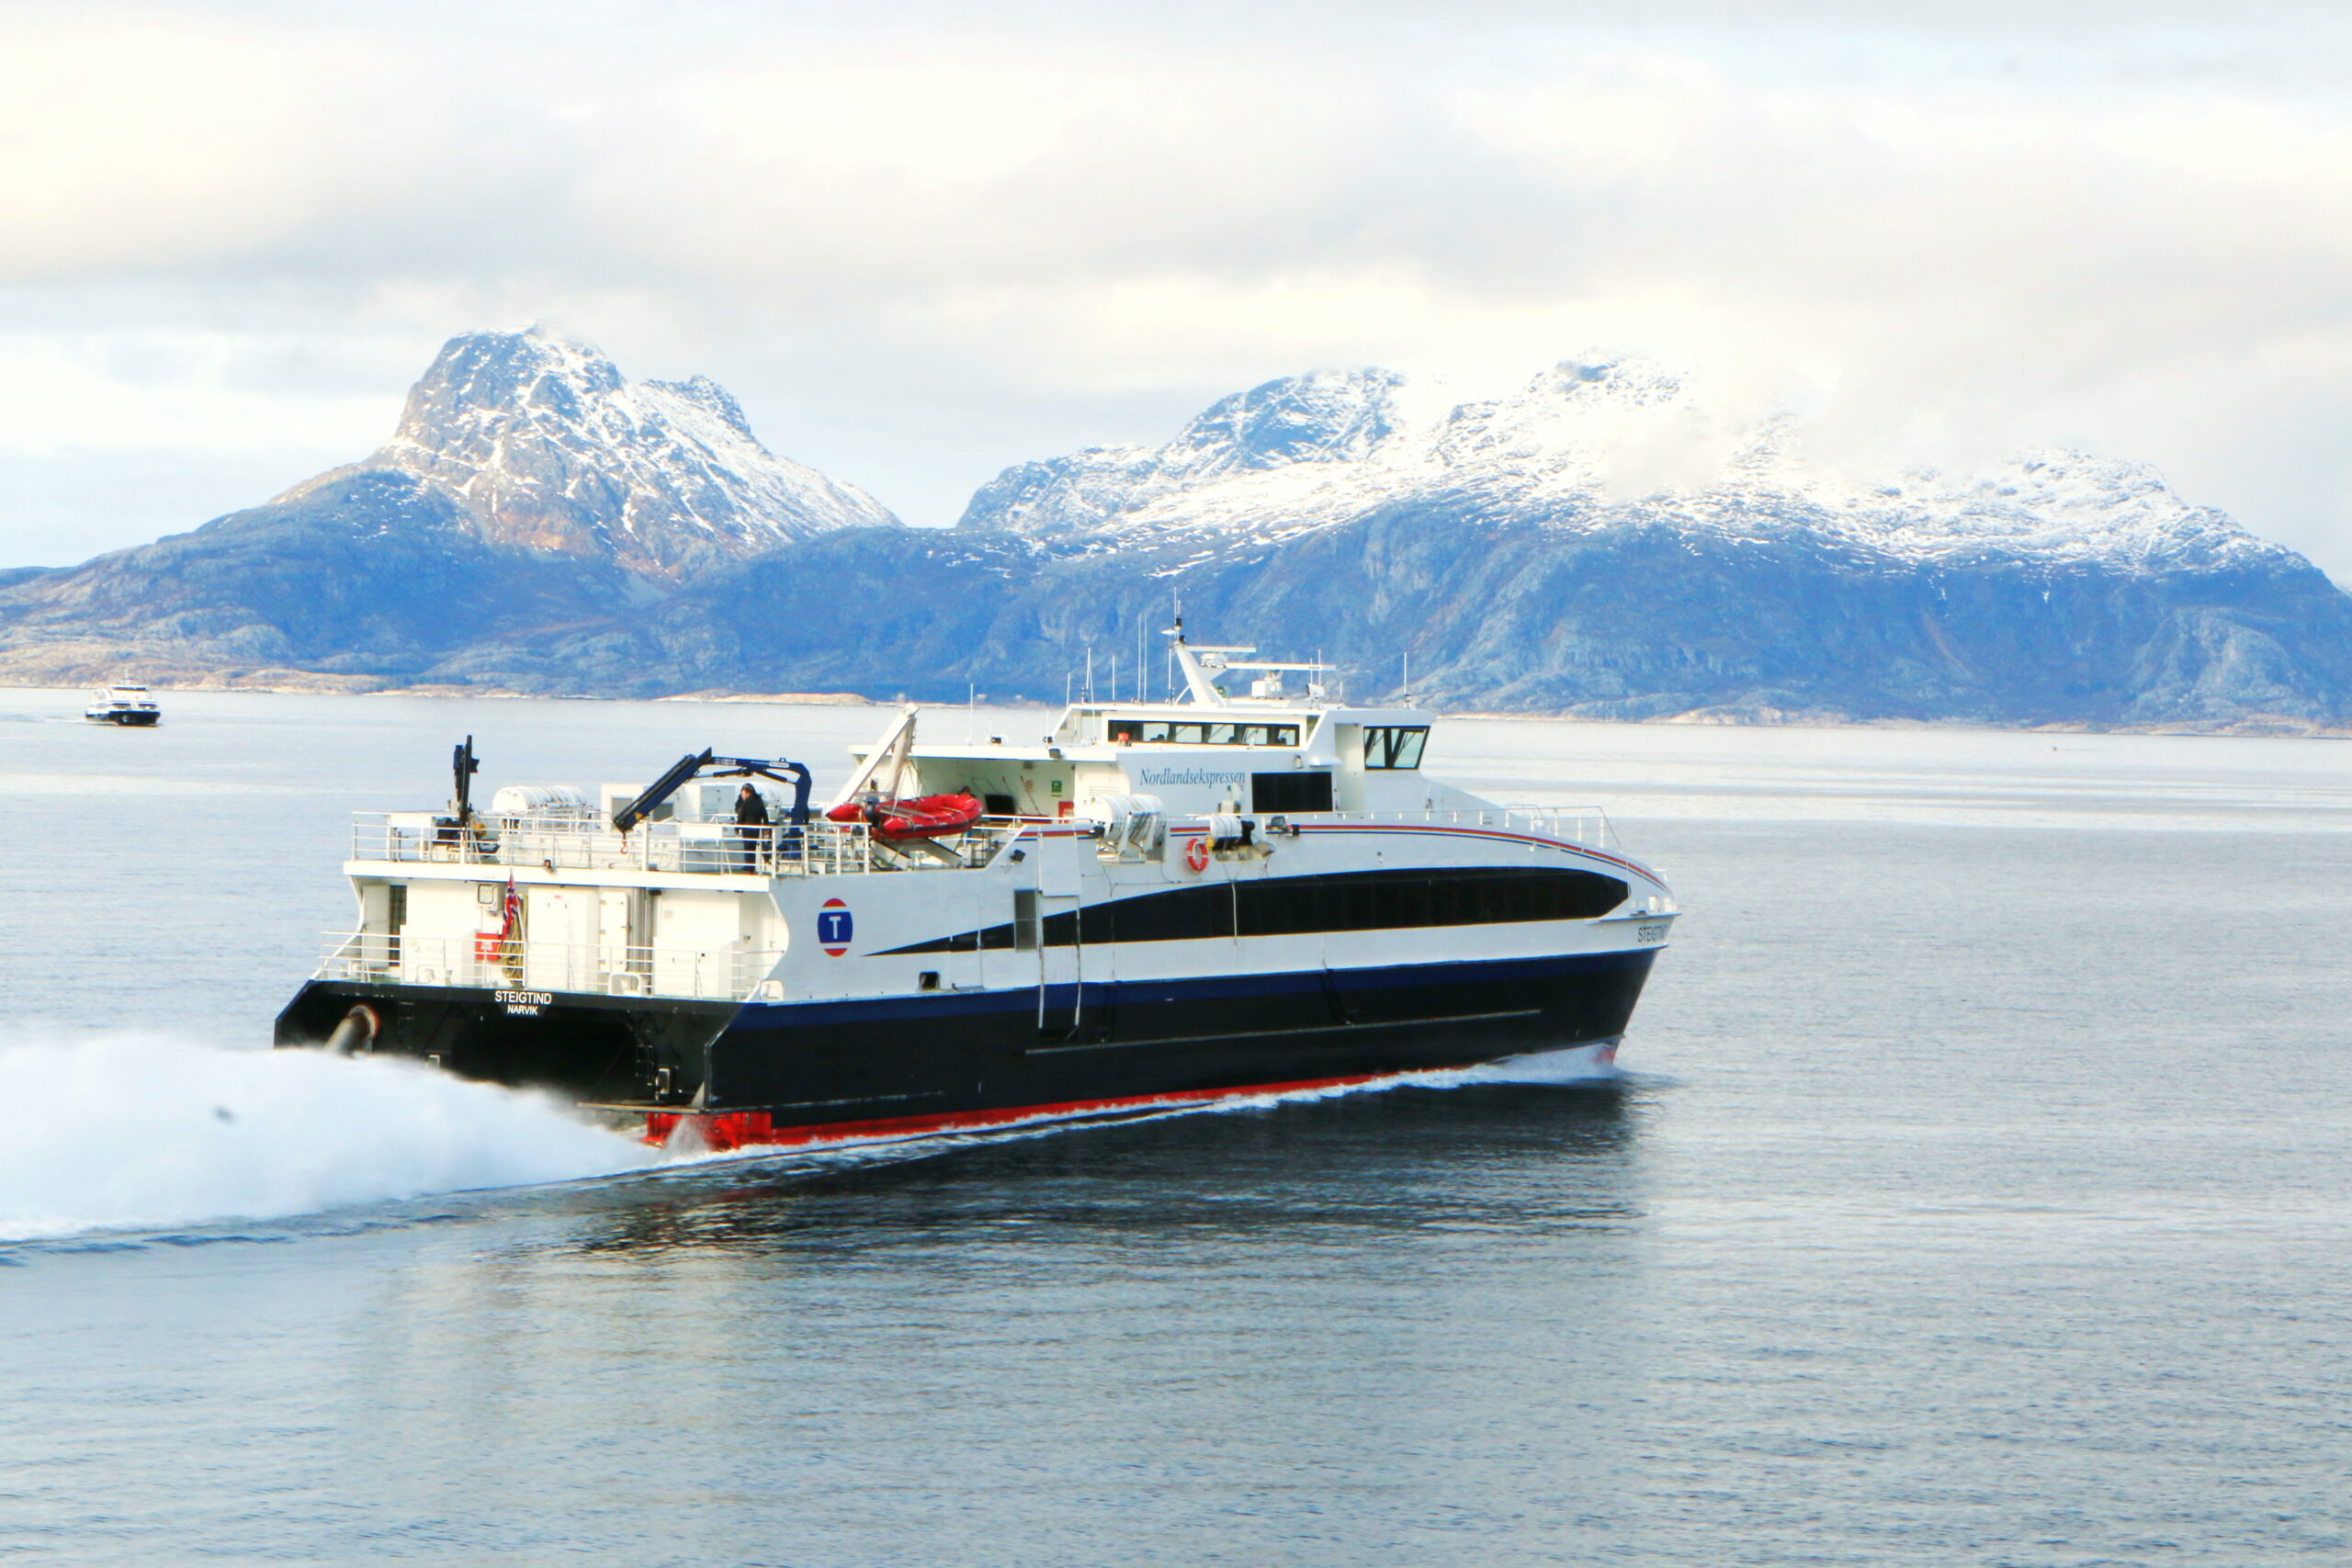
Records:
M506 940L494 931L414 936L329 931L320 980L463 985L590 997L750 1001L781 952Z

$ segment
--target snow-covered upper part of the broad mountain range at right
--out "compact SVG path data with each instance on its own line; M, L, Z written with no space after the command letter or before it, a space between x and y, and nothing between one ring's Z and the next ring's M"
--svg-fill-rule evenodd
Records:
M1395 508L1566 534L1670 524L1811 543L1858 567L2291 557L2190 505L2152 468L2079 451L1896 482L1811 470L1797 421L1719 421L1682 376L1630 360L1564 362L1484 402L1449 407L1432 390L1381 369L1268 381L1218 400L1164 447L1089 447L1007 468L971 498L964 527L1190 562Z

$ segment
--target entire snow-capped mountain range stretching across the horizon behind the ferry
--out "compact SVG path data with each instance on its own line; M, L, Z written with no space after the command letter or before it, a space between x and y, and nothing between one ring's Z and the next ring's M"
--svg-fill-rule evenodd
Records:
M367 463L0 581L0 677L1058 701L1087 649L1131 691L1136 632L1181 595L1202 632L1322 651L1359 698L1411 656L1446 708L2352 719L2352 599L2154 470L2032 454L1865 484L1802 435L1642 364L1477 402L1327 371L906 529L767 454L708 381L473 334Z

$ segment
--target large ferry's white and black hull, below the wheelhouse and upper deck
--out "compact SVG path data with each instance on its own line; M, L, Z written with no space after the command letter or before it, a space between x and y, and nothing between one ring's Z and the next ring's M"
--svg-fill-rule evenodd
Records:
M1621 856L1402 823L1232 851L1183 827L1160 858L1040 825L967 870L724 884L788 931L736 1001L659 994L659 964L612 976L626 997L343 976L306 985L278 1041L428 1058L713 1147L906 1135L1606 1051L1675 919Z

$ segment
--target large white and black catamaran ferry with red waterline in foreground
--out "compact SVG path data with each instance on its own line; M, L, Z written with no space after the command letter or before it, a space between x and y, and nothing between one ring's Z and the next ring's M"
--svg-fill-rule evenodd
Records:
M1251 651L1178 628L1176 701L1035 745L927 745L908 708L830 811L804 764L708 750L475 811L468 736L447 811L358 820L358 929L275 1039L710 1150L1609 1063L1677 917L1658 872L1597 809L1430 778L1432 715Z

